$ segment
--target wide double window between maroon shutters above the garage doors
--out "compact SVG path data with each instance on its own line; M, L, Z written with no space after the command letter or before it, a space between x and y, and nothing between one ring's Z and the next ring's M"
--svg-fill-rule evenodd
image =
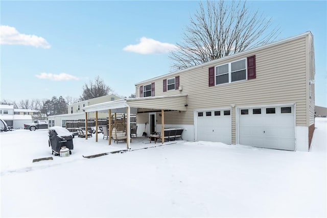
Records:
M246 80L246 59L216 67L216 85Z

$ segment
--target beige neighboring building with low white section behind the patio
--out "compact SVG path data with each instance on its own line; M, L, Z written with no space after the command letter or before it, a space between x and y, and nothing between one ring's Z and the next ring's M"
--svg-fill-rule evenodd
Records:
M105 96L101 96L94 99L89 99L86 101L78 102L75 104L68 105L68 113L67 114L60 114L60 115L52 115L48 117L49 120L49 127L52 126L60 126L65 127L66 120L78 120L78 119L85 119L85 112L84 107L89 105L95 105L103 102L111 102L120 100L121 98L114 94L109 94ZM95 118L95 113L90 112L89 117ZM98 114L98 118L107 118L108 112L100 112Z

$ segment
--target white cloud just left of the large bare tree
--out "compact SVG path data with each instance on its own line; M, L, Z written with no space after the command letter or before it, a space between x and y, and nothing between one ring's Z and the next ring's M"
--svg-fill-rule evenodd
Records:
M174 44L159 42L154 39L142 37L138 44L127 45L126 47L124 47L123 50L127 52L134 52L143 55L148 55L148 54L165 54L175 49L177 49L177 46Z

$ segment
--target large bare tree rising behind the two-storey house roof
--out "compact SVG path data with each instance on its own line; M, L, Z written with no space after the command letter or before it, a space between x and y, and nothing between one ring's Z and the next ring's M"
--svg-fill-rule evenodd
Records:
M272 28L272 19L250 11L246 2L200 2L200 10L190 18L183 42L172 51L172 70L188 68L267 44L276 39L279 28Z

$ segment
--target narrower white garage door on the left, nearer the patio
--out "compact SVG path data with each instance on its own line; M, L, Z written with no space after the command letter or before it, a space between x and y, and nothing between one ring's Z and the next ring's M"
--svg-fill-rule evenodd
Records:
M197 140L231 143L230 109L197 111Z

